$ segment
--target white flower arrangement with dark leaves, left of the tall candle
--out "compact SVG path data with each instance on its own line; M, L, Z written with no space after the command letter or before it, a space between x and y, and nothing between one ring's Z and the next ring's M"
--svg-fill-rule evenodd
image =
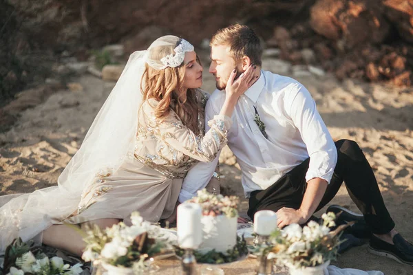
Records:
M98 263L107 263L118 267L131 267L134 270L145 268L145 261L167 248L161 241L160 228L148 221L143 221L139 212L131 214L131 226L120 222L100 230L97 225L87 230L86 243L82 259Z

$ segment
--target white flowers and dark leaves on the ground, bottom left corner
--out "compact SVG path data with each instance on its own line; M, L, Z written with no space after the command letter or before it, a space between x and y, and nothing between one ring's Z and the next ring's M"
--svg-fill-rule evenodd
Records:
M81 266L81 263L70 266L56 256L49 259L32 243L14 239L6 248L3 272L7 275L78 275L83 272Z

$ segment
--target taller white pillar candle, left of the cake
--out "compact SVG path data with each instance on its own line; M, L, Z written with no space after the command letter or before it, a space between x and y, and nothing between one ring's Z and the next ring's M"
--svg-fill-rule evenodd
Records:
M176 227L180 248L196 249L202 243L202 208L198 203L181 203L177 210Z

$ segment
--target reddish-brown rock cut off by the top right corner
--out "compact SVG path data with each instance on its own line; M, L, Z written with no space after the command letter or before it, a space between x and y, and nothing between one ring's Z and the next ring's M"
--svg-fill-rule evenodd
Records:
M396 26L403 40L413 43L413 1L412 0L387 0L385 15Z

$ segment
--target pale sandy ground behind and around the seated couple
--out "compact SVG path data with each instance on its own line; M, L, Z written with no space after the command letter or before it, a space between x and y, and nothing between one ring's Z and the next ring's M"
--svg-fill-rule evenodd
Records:
M307 87L334 140L359 143L377 176L396 230L413 241L413 88L351 79L340 82L317 68L292 66L275 58L265 58L263 68L291 76ZM10 131L0 133L0 195L55 185L115 84L87 73L71 81L76 84L72 89L56 91L45 102L23 111ZM203 88L215 89L207 67ZM245 213L240 170L228 148L220 161L223 190L242 198L241 212ZM331 203L358 211L344 184ZM352 248L332 264L381 270L386 275L413 274L413 267L369 254L366 248Z

